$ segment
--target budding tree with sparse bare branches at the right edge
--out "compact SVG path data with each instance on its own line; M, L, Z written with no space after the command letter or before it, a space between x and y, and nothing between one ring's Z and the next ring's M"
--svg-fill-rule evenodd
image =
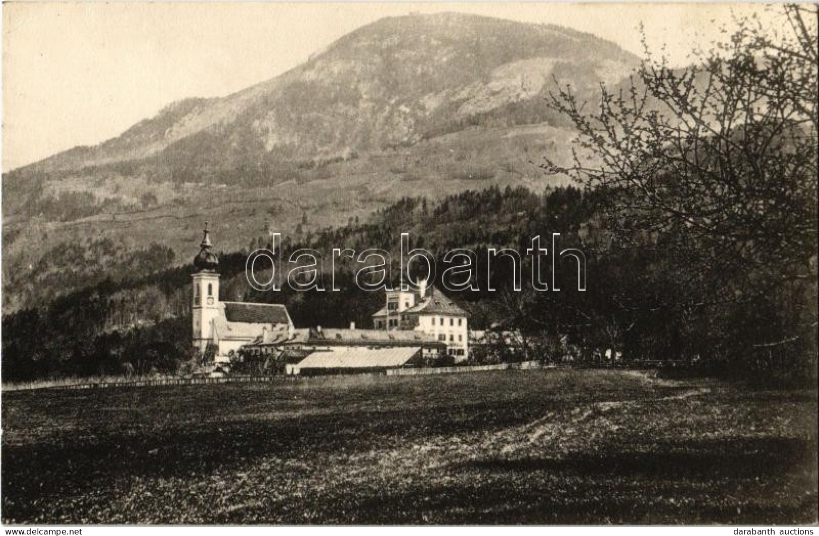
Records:
M782 10L781 29L737 20L689 68L647 50L629 83L602 88L596 110L572 88L550 96L580 135L572 165L545 168L607 192L618 245L667 252L686 283L686 322L793 285L815 289L819 7L770 9ZM816 304L792 320L799 333L771 330L758 344L815 330Z

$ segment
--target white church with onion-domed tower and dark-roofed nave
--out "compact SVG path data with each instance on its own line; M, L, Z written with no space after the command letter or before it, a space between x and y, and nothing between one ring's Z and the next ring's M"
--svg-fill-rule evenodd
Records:
M193 258L193 347L202 354L209 349L216 363L228 363L231 350L238 351L265 331L290 333L293 323L282 304L251 304L219 299L219 258L212 251L210 232L205 234Z

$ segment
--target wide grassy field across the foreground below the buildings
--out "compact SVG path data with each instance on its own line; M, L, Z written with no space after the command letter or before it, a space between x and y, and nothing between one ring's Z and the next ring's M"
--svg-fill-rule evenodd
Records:
M2 395L26 523L808 523L815 391L478 372Z

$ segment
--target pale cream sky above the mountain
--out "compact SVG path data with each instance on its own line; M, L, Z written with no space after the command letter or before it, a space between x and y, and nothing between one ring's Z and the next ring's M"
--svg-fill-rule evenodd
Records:
M461 11L550 23L641 56L642 21L676 65L731 13L760 4L52 3L2 6L2 169L96 145L186 97L221 97L274 77L384 16Z

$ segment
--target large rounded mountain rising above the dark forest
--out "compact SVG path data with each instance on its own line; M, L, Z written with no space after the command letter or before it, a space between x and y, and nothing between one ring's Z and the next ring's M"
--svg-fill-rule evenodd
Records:
M545 106L550 88L594 100L601 81L618 83L637 62L555 25L457 13L378 20L273 79L175 102L98 146L7 173L4 312L48 299L30 271L48 271L43 259L66 244L80 258L105 238L186 259L204 219L238 249L265 219L309 233L401 196L542 190L555 180L532 163L568 158L573 137Z

